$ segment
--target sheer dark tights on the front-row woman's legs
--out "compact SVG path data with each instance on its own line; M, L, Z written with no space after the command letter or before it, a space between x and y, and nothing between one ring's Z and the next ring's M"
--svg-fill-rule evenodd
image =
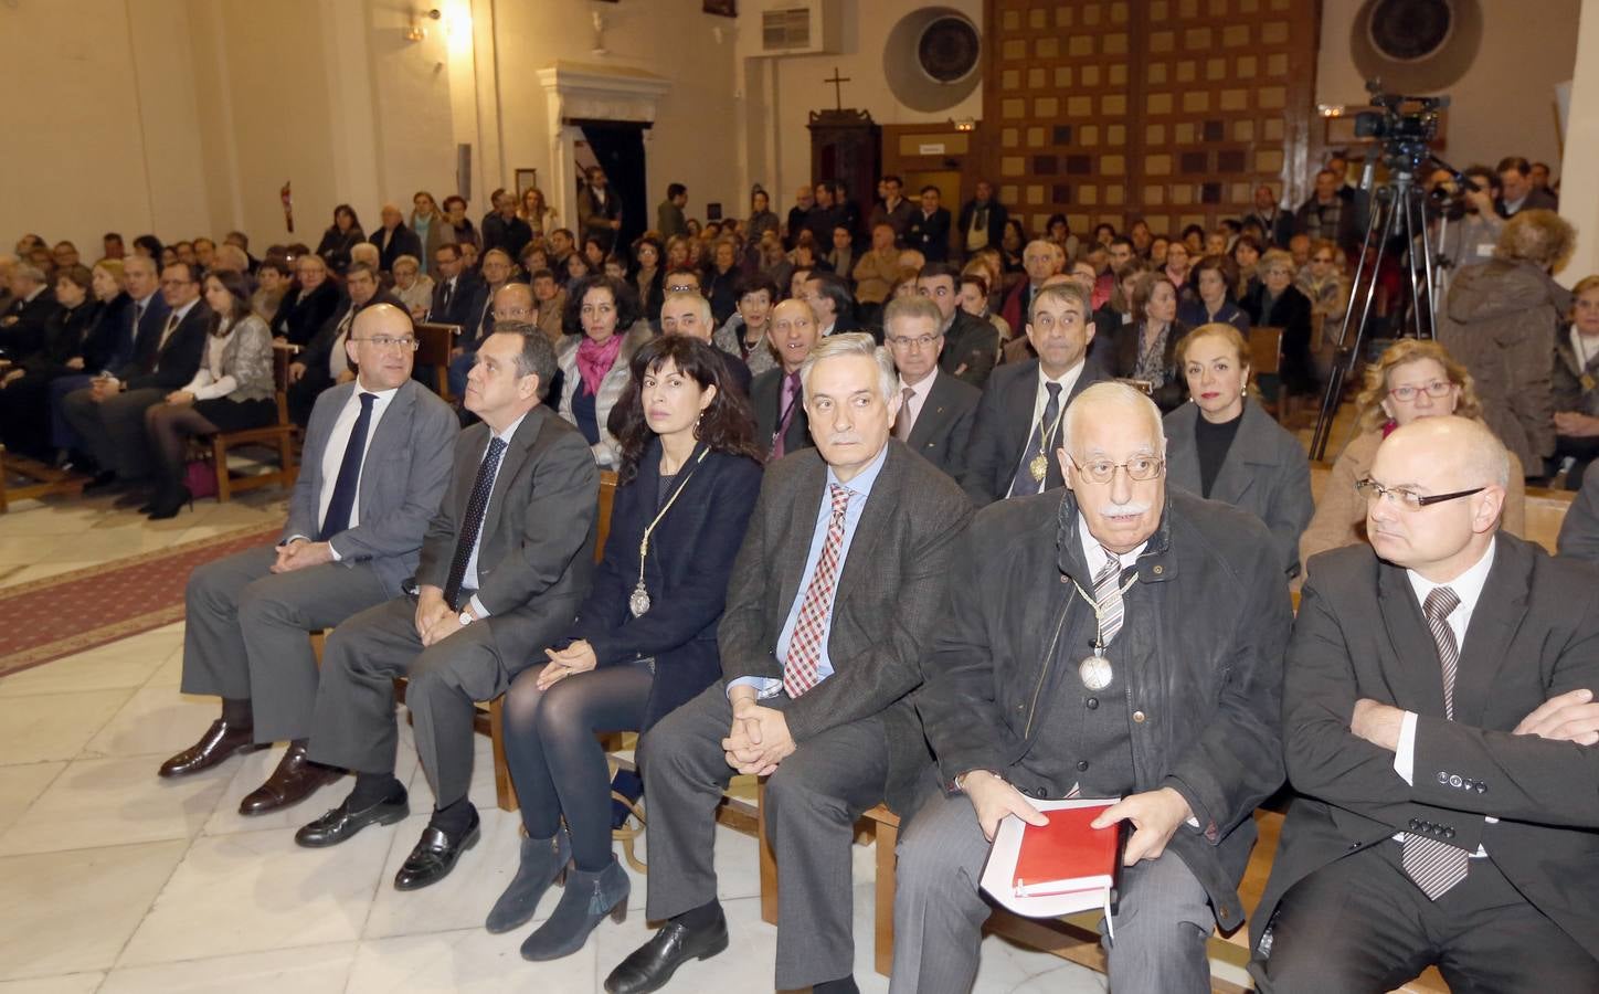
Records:
M611 778L600 732L644 722L654 676L644 663L604 666L539 690L544 666L516 678L505 695L505 761L528 837L548 839L566 817L572 863L600 873L611 863Z

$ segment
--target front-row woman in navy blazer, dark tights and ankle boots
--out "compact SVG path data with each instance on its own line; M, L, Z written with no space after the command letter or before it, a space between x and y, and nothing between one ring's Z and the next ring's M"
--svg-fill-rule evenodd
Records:
M566 644L545 650L550 662L518 676L507 695L505 757L528 837L488 930L529 920L572 865L555 912L521 946L526 959L576 952L600 919L627 909L596 734L646 730L721 676L716 623L761 486L755 417L726 377L716 350L686 336L633 355L593 590Z

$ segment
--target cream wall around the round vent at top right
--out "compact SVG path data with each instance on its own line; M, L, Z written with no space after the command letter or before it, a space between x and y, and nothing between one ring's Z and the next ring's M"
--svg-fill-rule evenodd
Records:
M1322 0L1316 101L1364 104L1366 80L1350 56L1350 27L1362 0ZM1457 168L1506 155L1561 161L1554 86L1572 78L1580 0L1479 0L1482 45L1450 96L1447 149ZM1591 50L1589 50L1591 51ZM1594 54L1594 53L1591 53Z

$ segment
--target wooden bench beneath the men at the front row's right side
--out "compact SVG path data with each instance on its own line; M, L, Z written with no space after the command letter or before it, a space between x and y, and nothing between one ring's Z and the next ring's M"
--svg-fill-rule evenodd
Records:
M878 805L862 815L855 826L857 841L876 845L876 893L873 898L873 968L887 976L894 965L894 871L899 845L899 815ZM761 920L769 925L777 924L777 860L766 842L764 805L756 821L760 833L760 866L761 866ZM1278 852L1278 836L1282 831L1282 815L1271 810L1255 812L1255 826L1260 841L1249 857L1244 879L1239 882L1238 897L1246 914L1252 914L1260 905L1260 895L1266 889L1266 877L1271 876L1271 858ZM1003 908L995 908L987 932L1001 935L1023 946L1031 946L1051 952L1075 964L1105 972L1105 951L1100 946L1099 912L1073 914L1063 919L1028 919L1012 914ZM1247 922L1236 932L1225 935L1215 932L1210 936L1212 959L1225 959L1242 965L1249 959L1249 925ZM1220 956L1217 956L1220 952ZM1214 978L1212 989L1218 992L1239 992L1247 988ZM1444 978L1430 967L1422 976L1398 988L1396 994L1433 994L1449 991Z

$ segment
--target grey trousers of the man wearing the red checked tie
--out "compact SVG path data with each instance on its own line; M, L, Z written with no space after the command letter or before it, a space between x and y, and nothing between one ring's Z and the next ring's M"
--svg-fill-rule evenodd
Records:
M787 708L779 695L763 702ZM732 727L718 681L660 719L640 743L649 809L651 920L716 898L716 804L734 770L721 740ZM855 818L883 801L887 734L878 716L800 745L766 780L766 833L777 857L777 988L854 973Z

